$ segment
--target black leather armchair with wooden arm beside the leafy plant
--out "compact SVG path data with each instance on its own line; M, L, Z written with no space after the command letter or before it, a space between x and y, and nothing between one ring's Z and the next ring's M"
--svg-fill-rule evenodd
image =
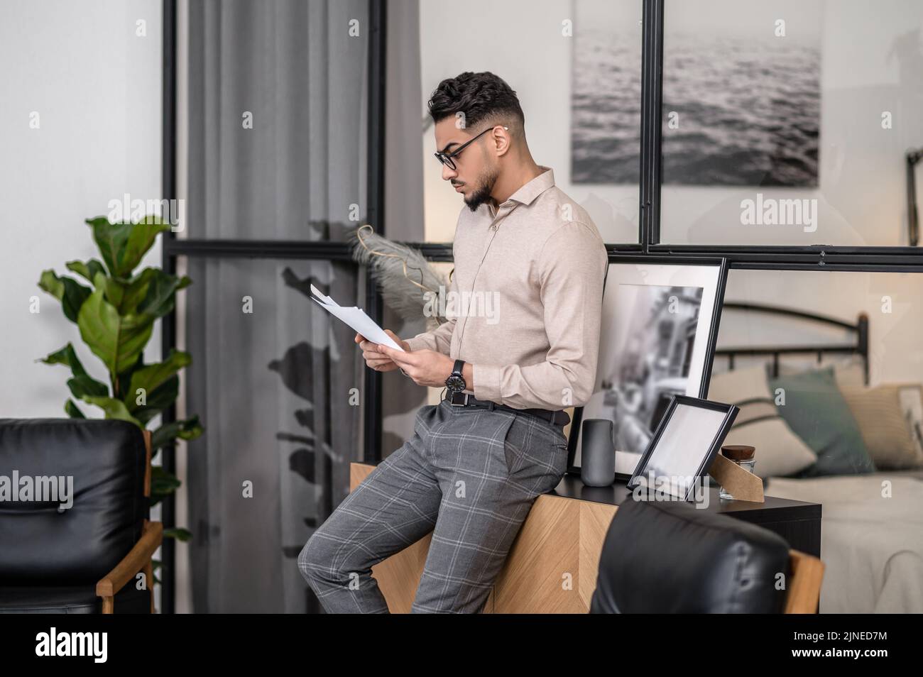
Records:
M73 478L66 509L60 495L0 492L0 612L153 612L151 556L163 528L149 521L150 432L124 421L0 419L0 482L52 477Z

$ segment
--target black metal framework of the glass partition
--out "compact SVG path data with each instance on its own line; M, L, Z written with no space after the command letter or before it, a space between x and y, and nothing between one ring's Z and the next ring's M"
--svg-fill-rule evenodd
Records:
M725 257L734 269L829 270L859 272L923 272L923 249L914 246L836 246L812 245L715 245L665 244L660 242L660 196L662 182L662 100L664 70L664 11L666 0L638 0L642 4L641 40L641 181L638 242L606 243L610 261L621 257L658 255L662 257ZM384 113L385 53L388 0L369 2L368 61L368 161L367 220L376 232L384 234ZM163 0L163 197L176 197L176 0ZM165 233L162 267L173 273L179 256L214 258L303 258L327 261L352 261L347 243L280 240L203 240L178 239ZM408 243L418 247L432 261L452 260L451 243ZM374 280L366 279L366 312L378 321L383 304ZM175 315L162 321L162 350L176 344ZM364 398L364 459L380 460L381 373L366 370ZM175 419L173 408L164 420ZM174 449L163 449L165 469L174 470ZM175 506L170 497L163 502L164 527L174 527ZM162 611L174 612L174 542L162 546Z

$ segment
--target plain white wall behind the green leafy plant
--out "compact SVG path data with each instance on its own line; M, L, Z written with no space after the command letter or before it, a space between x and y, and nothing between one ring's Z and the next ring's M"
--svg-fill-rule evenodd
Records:
M36 283L43 269L61 275L67 261L100 258L83 220L106 214L110 200L160 197L161 11L159 0L2 0L0 417L66 415L69 371L35 360L68 340L108 381L60 303ZM136 36L138 20L146 37ZM160 265L160 256L158 244L144 264ZM160 359L159 324L145 357Z

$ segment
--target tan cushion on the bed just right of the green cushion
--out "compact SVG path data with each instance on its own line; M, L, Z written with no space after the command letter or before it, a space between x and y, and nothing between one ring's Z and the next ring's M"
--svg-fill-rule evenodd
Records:
M876 469L917 468L923 463L901 407L901 386L839 387Z

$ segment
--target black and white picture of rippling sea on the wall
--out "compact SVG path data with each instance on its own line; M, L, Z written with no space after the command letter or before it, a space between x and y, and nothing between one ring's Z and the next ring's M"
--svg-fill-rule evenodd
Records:
M640 180L641 3L574 0L574 184ZM676 0L664 15L664 185L816 188L824 3Z

